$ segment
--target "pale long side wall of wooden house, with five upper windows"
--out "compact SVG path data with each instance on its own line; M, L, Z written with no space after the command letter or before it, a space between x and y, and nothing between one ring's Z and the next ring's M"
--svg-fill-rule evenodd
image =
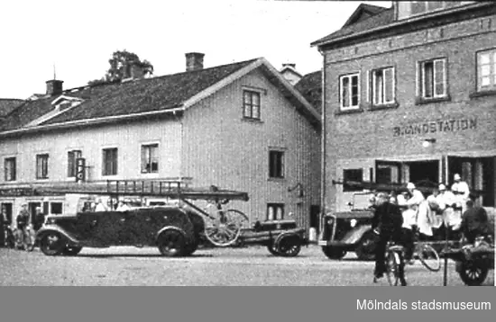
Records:
M141 174L141 145L159 143L159 173ZM68 151L78 149L86 158L88 181L108 179L140 179L177 177L180 168L180 124L177 121L115 124L9 139L1 143L0 184L5 183L5 157L17 157L15 183L43 182L36 180L36 154L48 153L50 182L68 178ZM102 148L118 148L117 175L102 175Z

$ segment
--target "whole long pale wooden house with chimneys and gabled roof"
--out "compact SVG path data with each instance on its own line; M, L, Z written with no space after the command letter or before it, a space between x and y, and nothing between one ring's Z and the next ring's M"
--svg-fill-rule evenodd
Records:
M0 203L14 219L22 202L64 212L64 196L23 195L31 183L188 180L248 192L232 205L253 219L318 212L320 115L264 58L184 73L63 90L47 82L5 116L0 131ZM133 76L134 75L134 76Z

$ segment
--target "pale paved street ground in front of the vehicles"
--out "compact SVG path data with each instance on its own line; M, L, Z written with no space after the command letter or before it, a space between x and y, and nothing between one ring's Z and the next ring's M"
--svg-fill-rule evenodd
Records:
M448 285L463 285L449 262ZM266 248L198 250L188 258L165 258L156 248L87 248L75 257L0 248L0 285L387 285L372 283L373 263L331 261L317 246L282 258ZM443 285L443 269L407 268L410 285ZM494 271L484 282L494 285Z

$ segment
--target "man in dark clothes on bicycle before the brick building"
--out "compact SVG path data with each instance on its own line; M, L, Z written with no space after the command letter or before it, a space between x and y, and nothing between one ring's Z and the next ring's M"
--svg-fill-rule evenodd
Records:
M372 229L379 232L379 240L375 246L375 269L373 282L377 282L386 271L385 255L386 246L392 240L401 244L401 226L403 217L398 205L391 203L387 193L378 193L375 199L374 214L372 218ZM400 267L400 282L406 286L404 267Z

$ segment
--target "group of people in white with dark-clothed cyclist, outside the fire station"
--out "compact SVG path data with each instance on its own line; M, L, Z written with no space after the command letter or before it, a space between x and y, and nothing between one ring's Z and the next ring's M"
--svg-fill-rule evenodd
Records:
M379 234L374 281L385 272L384 255L390 240L405 246L405 260L411 264L417 235L424 240L446 237L445 234L450 239L463 236L472 244L475 237L487 234L486 211L474 206L473 195L460 174L455 174L454 181L451 189L439 184L427 199L414 183L407 184L408 192L399 195L381 192L373 197L372 228ZM402 272L400 276L403 276L401 284L406 285Z

